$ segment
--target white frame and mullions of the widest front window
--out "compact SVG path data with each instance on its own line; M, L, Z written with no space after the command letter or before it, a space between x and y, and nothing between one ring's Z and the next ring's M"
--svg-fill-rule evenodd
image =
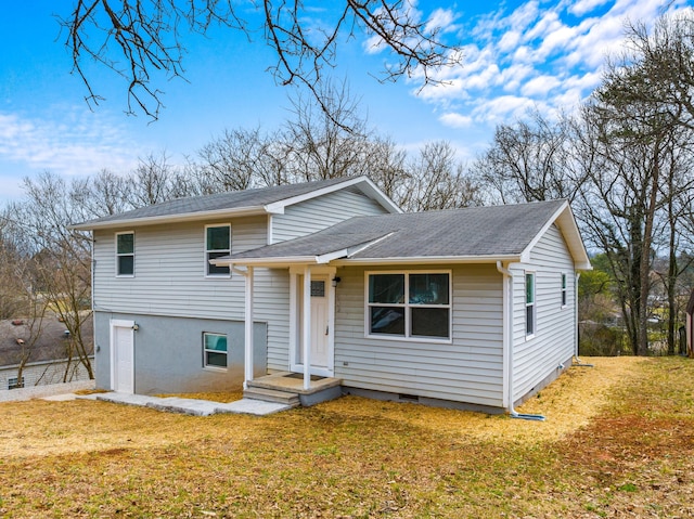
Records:
M377 303L369 302L369 276L378 274L404 275L404 302L403 303ZM410 274L448 274L448 304L413 304L409 302ZM372 334L371 333L371 307L404 308L404 335ZM448 337L434 337L411 335L411 308L448 309ZM370 339L398 340L408 342L436 342L452 343L453 341L453 272L451 270L376 270L364 272L364 336Z

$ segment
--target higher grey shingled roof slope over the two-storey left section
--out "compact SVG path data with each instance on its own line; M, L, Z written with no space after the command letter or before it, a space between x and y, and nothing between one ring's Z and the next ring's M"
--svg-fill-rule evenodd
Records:
M223 209L244 209L261 207L274 204L295 196L301 196L313 191L345 182L346 178L329 179L318 182L305 182L301 184L277 185L272 187L258 187L255 190L233 191L206 196L192 196L163 202L152 206L140 207L119 215L111 215L94 220L77 223L76 226L86 228L90 224L103 224L106 222L131 221L177 215L191 215L195 212L218 211Z

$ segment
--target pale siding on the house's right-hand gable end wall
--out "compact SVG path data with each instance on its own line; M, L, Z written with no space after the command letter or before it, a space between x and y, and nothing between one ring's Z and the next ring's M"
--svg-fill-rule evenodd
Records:
M525 335L524 270L535 273L535 335ZM561 304L560 280L567 276L566 300ZM530 252L530 261L514 270L514 401L532 391L574 354L574 263L560 230L552 225Z

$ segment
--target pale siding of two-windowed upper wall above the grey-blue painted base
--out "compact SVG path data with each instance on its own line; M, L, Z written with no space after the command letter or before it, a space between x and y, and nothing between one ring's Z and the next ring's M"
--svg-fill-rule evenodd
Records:
M232 222L232 248L265 244L265 218ZM137 230L137 276L114 278L113 232L94 233L94 308L100 311L243 319L243 276L202 277L205 224L147 225ZM108 238L108 235L112 237Z

